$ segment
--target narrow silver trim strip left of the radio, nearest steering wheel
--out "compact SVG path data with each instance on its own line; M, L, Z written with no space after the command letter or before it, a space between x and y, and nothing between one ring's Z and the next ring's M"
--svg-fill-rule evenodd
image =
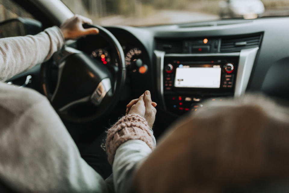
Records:
M157 75L160 74L160 76L157 76L157 91L159 98L161 99L161 106L163 109L166 110L165 105L165 98L163 96L163 60L165 57L166 52L154 50L154 54L157 57L156 65L157 65Z

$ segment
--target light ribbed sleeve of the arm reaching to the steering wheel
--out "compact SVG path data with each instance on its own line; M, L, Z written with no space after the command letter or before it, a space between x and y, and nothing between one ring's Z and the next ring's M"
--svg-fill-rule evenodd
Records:
M0 81L48 60L63 45L64 36L56 26L35 36L0 39Z

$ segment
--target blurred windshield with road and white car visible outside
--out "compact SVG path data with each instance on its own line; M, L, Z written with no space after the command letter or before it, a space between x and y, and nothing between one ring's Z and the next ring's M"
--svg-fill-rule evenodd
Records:
M288 0L62 0L103 26L151 26L289 15Z

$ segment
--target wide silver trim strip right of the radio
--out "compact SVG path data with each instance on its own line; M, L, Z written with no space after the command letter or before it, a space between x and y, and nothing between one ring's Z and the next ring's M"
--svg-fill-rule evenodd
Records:
M245 93L259 47L242 49L236 77L235 96Z

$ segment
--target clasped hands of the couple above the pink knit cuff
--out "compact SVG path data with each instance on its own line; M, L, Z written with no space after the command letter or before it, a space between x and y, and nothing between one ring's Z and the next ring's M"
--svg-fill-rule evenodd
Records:
M155 106L157 106L157 103L151 101L151 93L147 90L138 99L130 101L126 106L126 114L144 117L148 122L148 126L152 128L157 113Z

